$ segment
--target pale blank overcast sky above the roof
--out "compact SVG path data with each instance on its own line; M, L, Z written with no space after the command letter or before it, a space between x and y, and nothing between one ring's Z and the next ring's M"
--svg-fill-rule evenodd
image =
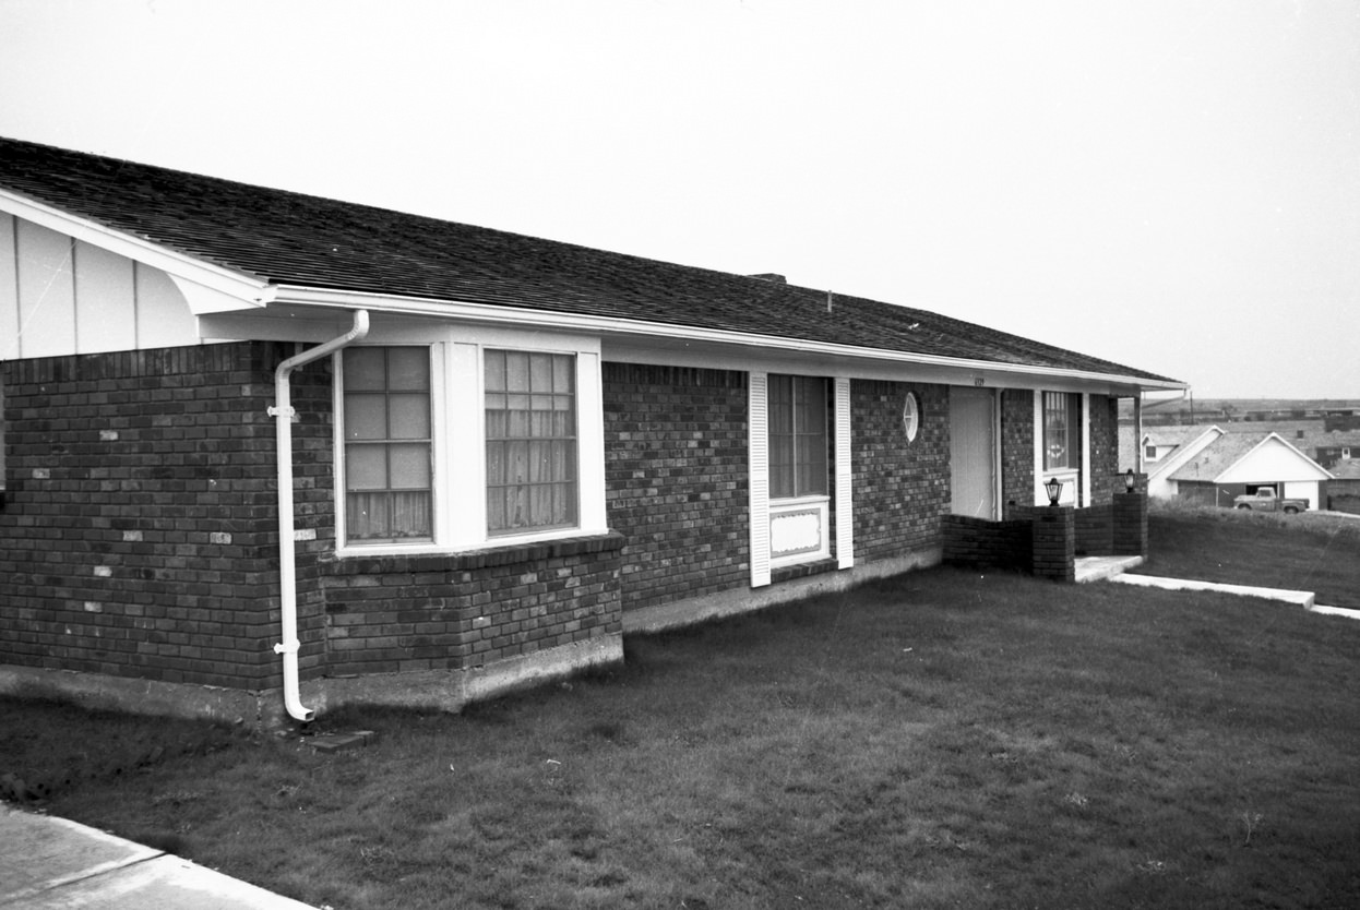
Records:
M1360 399L1357 0L0 0L0 135Z

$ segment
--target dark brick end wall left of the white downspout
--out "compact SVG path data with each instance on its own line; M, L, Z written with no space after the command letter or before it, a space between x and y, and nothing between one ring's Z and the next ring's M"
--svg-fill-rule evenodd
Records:
M277 676L269 344L4 363L0 662Z

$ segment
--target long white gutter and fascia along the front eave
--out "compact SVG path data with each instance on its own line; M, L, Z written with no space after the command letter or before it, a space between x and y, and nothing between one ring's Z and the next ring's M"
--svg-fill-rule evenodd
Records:
M998 363L994 360L970 360L966 358L948 358L930 354L907 354L902 351L885 351L881 348L865 348L850 344L834 344L827 341L805 341L800 339L783 339L748 332L729 332L722 329L702 329L687 325L672 325L668 322L647 322L643 320L620 320L604 316L585 316L578 313L558 313L552 310L532 310L513 306L491 306L486 303L469 303L465 301L427 301L420 298L390 297L385 294L370 294L363 291L330 291L314 287L298 287L280 284L277 298L280 303L303 303L309 306L332 307L364 307L375 313L401 313L409 316L428 316L443 320L469 320L476 322L509 322L518 326L537 326L570 329L575 332L590 332L601 336L622 337L658 337L673 344L714 344L736 346L749 350L770 351L772 354L797 354L801 356L827 356L840 359L858 359L864 362L880 362L884 365L919 365L937 366L952 370L971 370L982 378L983 386L997 388L1034 388L1054 390L1091 390L1089 384L1107 386L1107 393L1112 396L1133 396L1140 389L1185 389L1183 382L1142 380L1132 375L1112 375L1108 373L1091 373L1085 370L1065 370L1055 367L1021 366ZM639 347L638 351L645 348ZM657 348L660 354L661 350ZM673 355L670 362L675 362ZM743 369L749 369L749 360ZM987 382L989 375L1004 378L1004 382ZM1064 389L1061 384L1072 384ZM968 385L976 385L970 382Z

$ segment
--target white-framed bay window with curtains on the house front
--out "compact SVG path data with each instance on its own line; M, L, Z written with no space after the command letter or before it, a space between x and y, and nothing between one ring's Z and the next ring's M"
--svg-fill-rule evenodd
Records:
M336 356L339 555L608 530L597 340L379 328Z

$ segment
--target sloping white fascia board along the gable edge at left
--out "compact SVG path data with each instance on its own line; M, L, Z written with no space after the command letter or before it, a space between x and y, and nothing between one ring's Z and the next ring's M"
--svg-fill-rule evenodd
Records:
M246 306L265 306L273 301L275 287L258 277L185 256L154 241L113 230L88 218L72 215L7 189L0 189L0 212L158 268L171 279L192 282L235 298Z

